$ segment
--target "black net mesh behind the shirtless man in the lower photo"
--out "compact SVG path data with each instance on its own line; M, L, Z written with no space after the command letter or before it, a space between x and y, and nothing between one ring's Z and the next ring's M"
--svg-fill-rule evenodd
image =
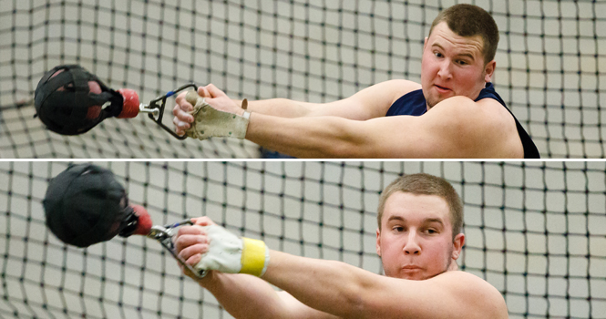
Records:
M0 162L0 317L229 318L158 242L81 250L44 224L67 162ZM382 273L378 195L402 173L450 181L465 207L459 265L511 318L606 318L604 162L101 162L156 224L206 214L272 249Z

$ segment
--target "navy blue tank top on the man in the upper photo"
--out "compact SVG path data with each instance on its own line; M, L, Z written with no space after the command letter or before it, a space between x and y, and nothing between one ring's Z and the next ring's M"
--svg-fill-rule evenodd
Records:
M495 91L495 87L492 85L492 83L488 82L486 87L482 88L482 90L479 92L478 98L476 98L476 101L479 101L482 98L494 98L498 100L498 103L500 103L503 108L506 108L513 119L516 120L516 128L518 129L519 139L522 140L522 147L524 148L524 159L539 159L539 149L537 149L537 146L535 146L532 139L530 139L530 136L526 130L521 124L519 124L518 118L516 118L513 113L511 113L509 108L507 108L505 101L498 96L498 93ZM414 117L418 117L425 114L426 111L427 106L425 96L423 96L423 90L417 89L416 91L409 92L401 98L398 98L387 110L387 114L385 116L393 117L396 115L412 115Z

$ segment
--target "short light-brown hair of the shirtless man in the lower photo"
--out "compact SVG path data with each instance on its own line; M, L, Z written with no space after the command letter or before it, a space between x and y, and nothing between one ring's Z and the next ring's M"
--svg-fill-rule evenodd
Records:
M385 201L396 191L408 192L416 195L436 195L447 201L450 209L450 222L452 223L453 239L461 232L463 227L463 203L458 197L457 190L447 180L426 173L404 175L385 187L379 197L379 208L376 221L381 231L381 220L385 210Z

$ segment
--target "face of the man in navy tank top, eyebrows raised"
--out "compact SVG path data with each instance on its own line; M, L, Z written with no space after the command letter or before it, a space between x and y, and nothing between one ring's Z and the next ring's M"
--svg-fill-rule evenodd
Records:
M446 22L434 27L425 39L421 61L421 86L427 107L446 98L478 98L494 73L496 63L485 64L481 36L457 36Z

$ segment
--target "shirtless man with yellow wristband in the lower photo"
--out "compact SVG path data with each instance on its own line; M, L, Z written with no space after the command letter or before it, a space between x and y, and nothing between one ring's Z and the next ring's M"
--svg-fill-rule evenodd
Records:
M175 243L179 256L196 270L214 270L201 279L186 274L236 318L508 317L497 289L457 271L465 244L459 232L463 213L446 180L426 174L395 180L381 195L378 212L376 252L386 276L344 262L271 251L205 217L181 228Z

